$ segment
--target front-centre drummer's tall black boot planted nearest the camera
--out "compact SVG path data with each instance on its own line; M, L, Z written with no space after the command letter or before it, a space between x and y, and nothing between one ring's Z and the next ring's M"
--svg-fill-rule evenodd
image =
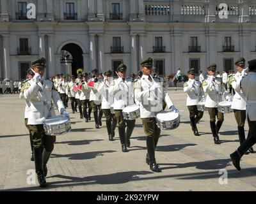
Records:
M147 151L148 151L148 159L150 163L150 170L154 172L161 172L159 169L156 158L155 158L155 145L154 145L154 138L147 136Z

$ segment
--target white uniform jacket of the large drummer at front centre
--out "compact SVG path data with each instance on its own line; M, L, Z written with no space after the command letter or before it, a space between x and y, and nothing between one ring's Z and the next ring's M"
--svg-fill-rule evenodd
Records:
M159 85L161 85L160 90L156 89L154 92L149 90L154 83L157 82L150 82L150 80L148 80L148 76L143 75L134 84L134 96L136 100L140 102L141 119L156 117L157 113L163 110L163 99L168 108L173 105L168 92L163 88L163 83L159 83Z

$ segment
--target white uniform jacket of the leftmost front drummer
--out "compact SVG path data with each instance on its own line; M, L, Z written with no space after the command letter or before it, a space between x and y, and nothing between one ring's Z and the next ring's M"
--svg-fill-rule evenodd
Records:
M36 84L31 79L24 84L23 96L29 101L28 124L44 124L45 119L51 117L52 100L59 112L65 111L64 105L58 92L54 89L51 80L42 79L41 83Z

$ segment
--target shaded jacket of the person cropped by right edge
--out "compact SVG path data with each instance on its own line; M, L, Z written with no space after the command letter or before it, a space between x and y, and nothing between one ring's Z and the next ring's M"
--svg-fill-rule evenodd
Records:
M256 121L256 73L249 72L241 80L241 87L246 98L246 117Z

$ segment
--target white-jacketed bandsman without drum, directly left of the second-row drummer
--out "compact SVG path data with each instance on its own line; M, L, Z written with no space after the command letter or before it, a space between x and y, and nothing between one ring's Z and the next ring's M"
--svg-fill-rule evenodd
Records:
M100 92L102 96L101 110L106 116L106 126L108 131L109 141L113 141L115 137L115 128L116 128L116 117L115 114L111 113L110 106L114 102L113 96L109 94L109 86L110 86L110 77L112 75L112 71L106 71L104 73L104 80L100 83L97 91Z

